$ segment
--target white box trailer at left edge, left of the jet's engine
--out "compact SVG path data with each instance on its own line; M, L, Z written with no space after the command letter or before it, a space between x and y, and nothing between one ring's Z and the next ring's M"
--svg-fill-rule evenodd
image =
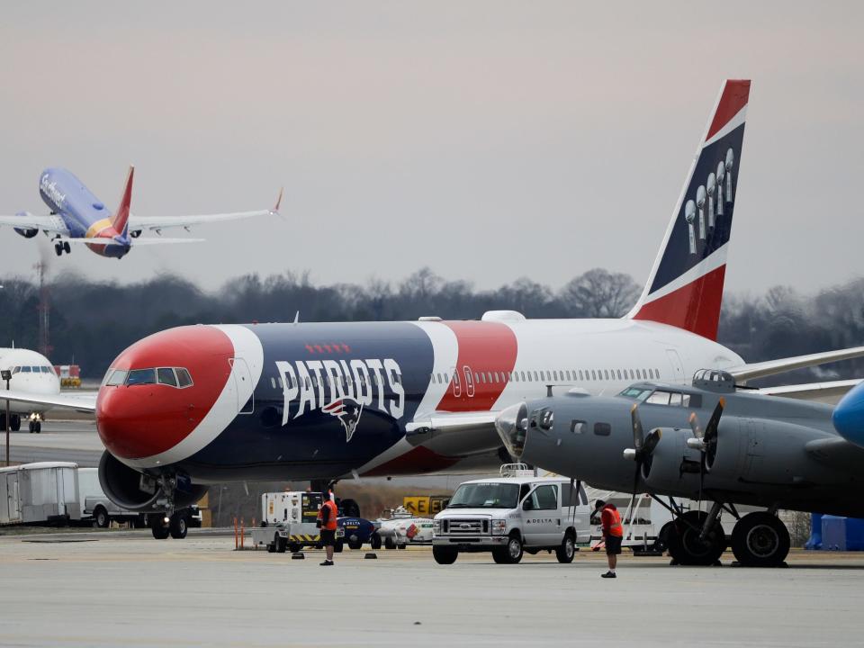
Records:
M0 525L80 519L77 469L69 462L0 468Z

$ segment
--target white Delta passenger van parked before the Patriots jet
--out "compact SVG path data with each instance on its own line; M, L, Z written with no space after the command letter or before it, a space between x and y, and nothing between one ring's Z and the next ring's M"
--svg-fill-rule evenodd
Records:
M496 563L518 563L523 552L554 551L571 563L590 541L585 489L563 477L535 477L524 464L501 466L500 477L464 482L434 519L432 554L455 563L460 552L491 552Z

